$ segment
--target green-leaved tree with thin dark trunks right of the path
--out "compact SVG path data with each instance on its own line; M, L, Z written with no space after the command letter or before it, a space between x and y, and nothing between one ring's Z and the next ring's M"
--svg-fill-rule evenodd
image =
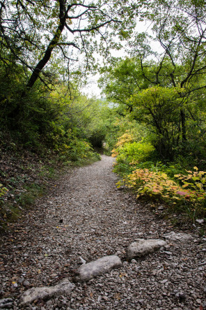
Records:
M196 139L205 133L205 3L154 0L147 8L150 31L128 41L130 57L102 68L100 85L121 114L152 126L161 156L173 158L194 131Z

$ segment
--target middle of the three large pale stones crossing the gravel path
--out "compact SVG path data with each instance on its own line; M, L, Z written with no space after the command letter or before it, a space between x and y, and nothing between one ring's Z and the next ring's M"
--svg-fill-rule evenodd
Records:
M122 262L118 256L104 256L93 262L81 265L74 276L74 281L88 281L95 276L99 276L100 274L104 274L121 266Z

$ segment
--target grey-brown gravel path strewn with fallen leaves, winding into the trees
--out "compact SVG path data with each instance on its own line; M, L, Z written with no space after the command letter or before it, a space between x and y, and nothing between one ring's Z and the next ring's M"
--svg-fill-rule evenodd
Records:
M102 156L75 168L1 236L0 298L13 298L7 309L206 309L205 238L168 242L166 251L127 263L136 238L161 239L173 228L116 189L112 164ZM124 262L120 269L75 283L70 297L19 307L28 288L72 281L79 256L89 262L113 254Z

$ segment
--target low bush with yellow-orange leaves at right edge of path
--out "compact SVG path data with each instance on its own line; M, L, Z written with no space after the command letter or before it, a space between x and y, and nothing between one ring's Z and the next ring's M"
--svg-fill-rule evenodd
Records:
M180 212L187 211L192 219L206 214L206 172L187 171L189 175L175 175L180 184L161 171L136 169L123 179L125 185L134 189L136 198L150 198L175 206ZM122 185L122 181L117 183ZM187 188L187 189L186 189Z

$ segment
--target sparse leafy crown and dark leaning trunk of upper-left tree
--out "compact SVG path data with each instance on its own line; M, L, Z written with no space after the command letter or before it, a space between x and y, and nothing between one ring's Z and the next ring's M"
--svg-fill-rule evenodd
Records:
M113 36L131 33L138 8L126 0L3 0L0 6L1 64L23 66L28 88L38 78L51 83L56 75L51 60L64 59L70 73L71 63L84 53L84 68L91 70L94 52L118 48Z

